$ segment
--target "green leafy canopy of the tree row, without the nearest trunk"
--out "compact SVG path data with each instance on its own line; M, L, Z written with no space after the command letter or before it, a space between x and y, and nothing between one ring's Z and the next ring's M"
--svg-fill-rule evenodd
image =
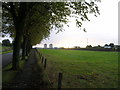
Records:
M23 2L22 2L23 3ZM63 30L63 25L67 24L68 16L76 18L76 26L82 27L83 21L90 21L88 14L92 13L95 16L99 13L98 6L94 2L26 2L23 3L25 13L23 34L31 40L31 45L39 43L47 38L53 27L59 31ZM21 2L13 3L14 11L19 20ZM6 8L7 7L7 8ZM10 33L15 37L15 22L10 13L10 3L3 4L3 33ZM9 25L6 26L6 24ZM86 32L85 29L83 31Z

